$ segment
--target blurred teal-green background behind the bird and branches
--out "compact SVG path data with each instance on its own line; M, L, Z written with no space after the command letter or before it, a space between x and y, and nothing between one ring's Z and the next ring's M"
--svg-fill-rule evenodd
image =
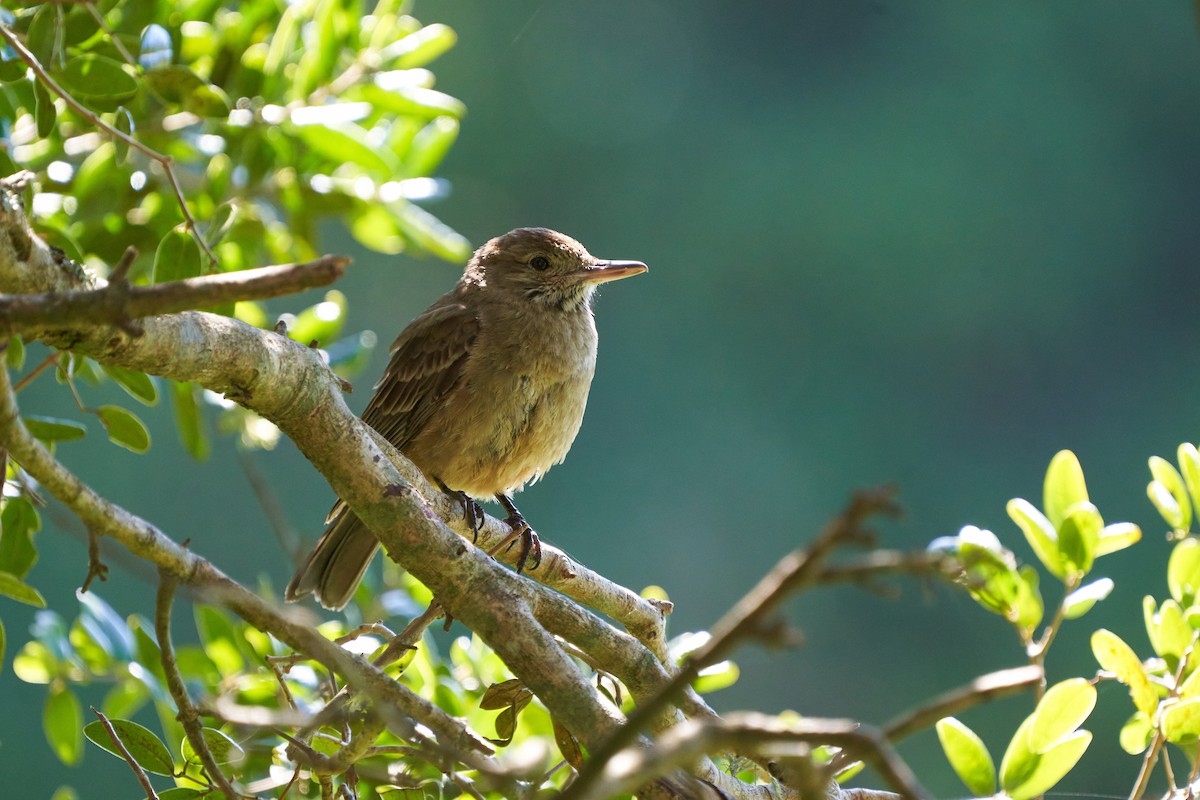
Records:
M442 170L452 192L430 210L475 245L547 225L650 265L605 288L583 429L518 498L524 515L613 579L665 587L679 633L710 626L860 486L901 488L906 516L882 527L886 546L974 523L1032 559L1004 503L1040 503L1050 457L1070 447L1105 518L1146 537L1100 563L1117 589L1068 624L1050 678L1092 674L1097 626L1148 651L1140 601L1165 594L1169 546L1146 458L1194 440L1200 416L1193 12L1184 0L418 4L422 22L458 31L433 67L469 108ZM349 327L380 339L358 410L384 345L458 267L367 253L334 228L325 245L355 258L338 285ZM41 383L23 408L70 414ZM100 437L60 456L233 577L281 587L288 557L232 443L196 464L168 409L146 416L148 457ZM287 441L251 457L316 537L332 499L316 471ZM48 600L71 609L85 549L56 518L30 581L58 583ZM739 651L742 680L712 702L882 723L1021 663L998 618L902 585L901 602L796 599L804 646ZM150 584L120 569L98 591L122 614L151 606ZM6 607L10 656L29 619ZM127 768L95 748L59 765L43 697L0 674L0 771L22 776L24 796L62 782L136 796ZM1030 708L965 718L1002 751ZM1058 792L1128 792L1139 762L1116 728L1130 712L1122 687L1102 686L1086 726L1097 740ZM938 796L961 796L931 732L902 752Z

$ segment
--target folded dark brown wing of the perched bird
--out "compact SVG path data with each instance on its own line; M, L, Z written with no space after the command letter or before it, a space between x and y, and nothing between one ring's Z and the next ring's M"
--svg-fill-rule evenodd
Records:
M458 383L478 333L475 314L452 300L414 319L391 345L362 421L403 451Z

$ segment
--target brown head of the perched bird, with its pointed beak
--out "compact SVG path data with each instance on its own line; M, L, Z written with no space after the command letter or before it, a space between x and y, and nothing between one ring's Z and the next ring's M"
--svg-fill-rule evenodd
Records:
M514 302L563 311L587 308L601 283L646 272L641 261L596 258L583 245L547 228L517 228L491 240L472 257L466 279Z

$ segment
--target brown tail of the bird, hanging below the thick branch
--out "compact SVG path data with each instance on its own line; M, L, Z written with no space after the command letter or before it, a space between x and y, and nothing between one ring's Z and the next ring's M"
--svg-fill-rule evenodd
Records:
M284 600L300 600L312 593L322 606L332 610L350 602L379 540L341 501L330 517L329 528L288 582Z

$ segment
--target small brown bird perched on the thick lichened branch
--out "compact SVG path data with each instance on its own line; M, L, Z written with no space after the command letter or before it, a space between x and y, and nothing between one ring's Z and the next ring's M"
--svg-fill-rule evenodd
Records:
M596 365L596 285L646 272L608 261L546 228L518 228L478 251L450 293L391 345L362 421L463 505L496 498L522 537L517 571L536 535L511 494L562 463L583 421ZM326 608L350 600L379 542L338 500L329 527L284 597L313 593Z

